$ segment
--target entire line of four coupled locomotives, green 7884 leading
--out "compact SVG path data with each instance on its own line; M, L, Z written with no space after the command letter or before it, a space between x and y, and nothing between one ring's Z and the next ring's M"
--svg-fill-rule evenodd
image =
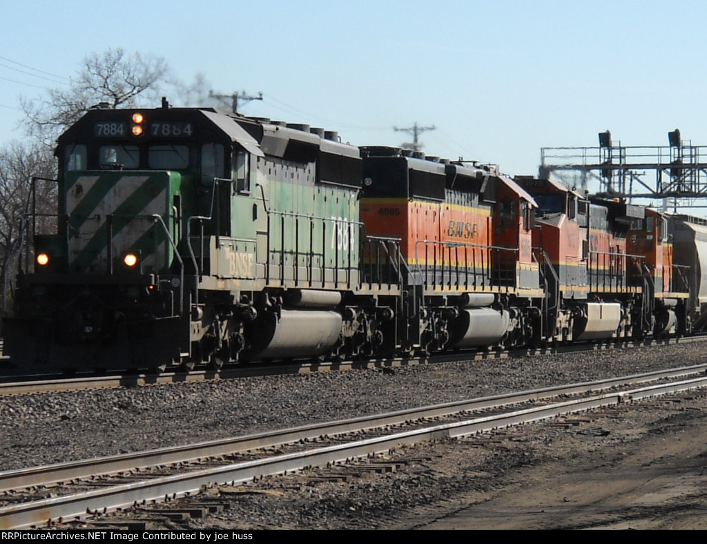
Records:
M547 179L165 101L90 110L56 155L57 230L28 232L3 324L28 369L644 338L699 313L664 215Z

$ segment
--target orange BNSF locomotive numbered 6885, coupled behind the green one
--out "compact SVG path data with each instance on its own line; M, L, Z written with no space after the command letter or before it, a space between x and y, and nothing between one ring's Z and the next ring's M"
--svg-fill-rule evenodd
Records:
M399 244L404 263L403 350L539 338L544 290L532 252L532 196L491 169L398 148L361 151L361 222L368 237ZM380 258L364 249L364 263Z

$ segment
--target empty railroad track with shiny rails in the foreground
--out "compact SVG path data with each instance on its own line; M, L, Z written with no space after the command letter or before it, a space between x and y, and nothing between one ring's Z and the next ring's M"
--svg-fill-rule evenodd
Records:
M662 383L654 383L654 382ZM643 384L642 386L640 384ZM0 473L0 529L66 523L136 504L193 495L310 466L350 463L400 444L462 437L559 415L707 386L707 365L557 386ZM566 400L573 395L577 398ZM563 400L557 401L562 397ZM61 496L59 492L62 492ZM52 495L52 496L50 496Z

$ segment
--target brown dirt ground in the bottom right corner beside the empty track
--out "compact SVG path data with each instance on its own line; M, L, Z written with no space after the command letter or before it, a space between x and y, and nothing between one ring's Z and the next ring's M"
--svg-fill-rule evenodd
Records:
M685 396L591 415L496 490L415 528L706 529L706 407Z

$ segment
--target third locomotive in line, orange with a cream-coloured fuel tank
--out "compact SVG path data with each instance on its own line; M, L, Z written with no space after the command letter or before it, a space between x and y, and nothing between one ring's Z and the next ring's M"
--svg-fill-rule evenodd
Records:
M613 244L617 231L609 211L552 180L516 179L539 206L533 246L542 248L548 285L545 336L585 341L619 335L628 326L617 300L626 287L625 244L623 252Z

